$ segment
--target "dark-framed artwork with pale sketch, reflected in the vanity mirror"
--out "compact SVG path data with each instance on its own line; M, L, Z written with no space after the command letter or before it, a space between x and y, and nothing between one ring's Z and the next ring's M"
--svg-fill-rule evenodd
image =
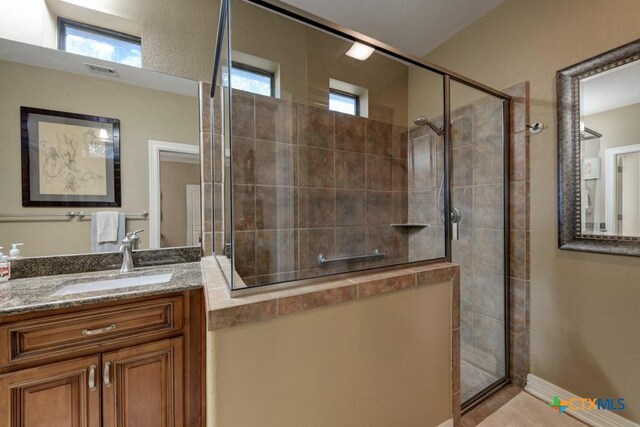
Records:
M120 120L20 107L22 206L121 206Z

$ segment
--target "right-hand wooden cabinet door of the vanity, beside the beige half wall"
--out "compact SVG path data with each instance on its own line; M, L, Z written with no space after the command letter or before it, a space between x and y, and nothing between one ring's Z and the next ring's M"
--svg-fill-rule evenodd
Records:
M182 359L182 337L104 353L103 426L182 426Z

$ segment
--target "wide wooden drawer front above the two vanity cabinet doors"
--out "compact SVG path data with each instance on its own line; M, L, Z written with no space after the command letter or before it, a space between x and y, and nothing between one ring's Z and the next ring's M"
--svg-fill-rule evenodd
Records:
M18 321L0 327L0 366L182 329L182 296Z

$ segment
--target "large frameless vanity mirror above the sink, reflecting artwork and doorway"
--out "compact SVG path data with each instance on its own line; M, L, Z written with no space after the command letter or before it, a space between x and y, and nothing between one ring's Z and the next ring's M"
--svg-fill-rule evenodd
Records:
M24 243L21 256L114 251L137 229L138 249L200 244L197 82L0 39L0 85L5 253L12 243ZM21 107L56 114L21 129ZM115 201L95 202L111 192Z

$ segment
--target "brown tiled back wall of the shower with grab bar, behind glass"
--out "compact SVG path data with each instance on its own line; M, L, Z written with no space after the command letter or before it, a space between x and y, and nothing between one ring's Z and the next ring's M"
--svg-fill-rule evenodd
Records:
M389 123L234 91L236 271L258 285L407 261L407 134ZM318 266L327 258L384 259ZM423 258L424 259L424 258Z

